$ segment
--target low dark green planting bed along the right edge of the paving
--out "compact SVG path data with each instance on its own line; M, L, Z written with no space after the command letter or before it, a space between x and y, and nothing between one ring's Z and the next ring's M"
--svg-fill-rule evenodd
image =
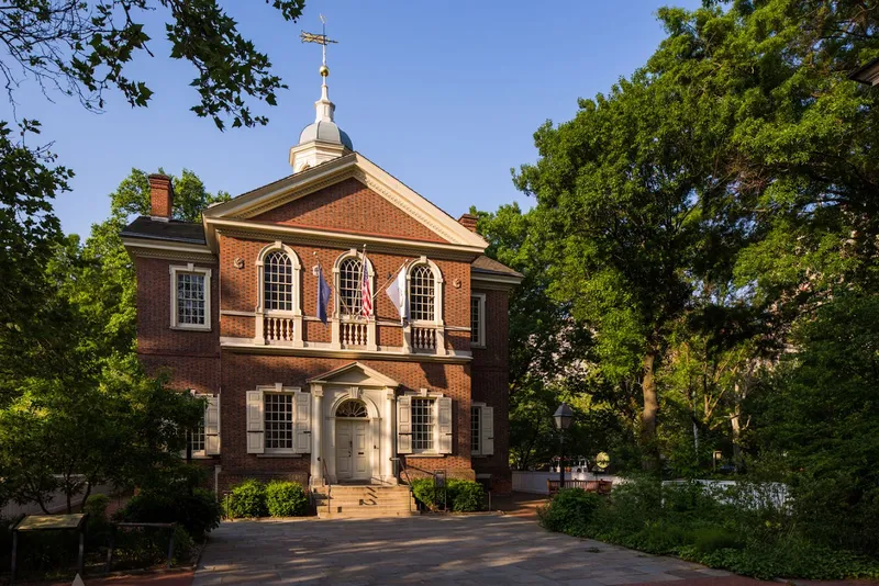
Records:
M724 489L649 476L614 487L610 498L566 488L538 511L543 527L763 579L879 577L863 553L831 548L802 522L794 503L774 506L756 483Z

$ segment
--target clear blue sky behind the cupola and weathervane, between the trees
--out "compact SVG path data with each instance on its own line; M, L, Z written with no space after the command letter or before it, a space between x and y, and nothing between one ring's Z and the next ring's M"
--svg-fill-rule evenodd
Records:
M221 133L189 111L194 74L165 57L160 12L146 19L156 57L132 68L155 91L149 108L108 94L107 111L91 114L73 99L45 100L33 83L19 91L19 117L40 120L58 162L76 171L73 192L55 204L66 232L86 235L102 221L132 168L188 168L233 195L289 174L289 148L320 97L320 47L298 36L320 32L319 13L340 41L329 49L330 98L356 150L455 217L470 205L530 206L510 168L536 159L534 131L570 120L578 98L642 65L664 36L657 8L700 2L309 0L293 24L262 1L224 3L289 86L276 108L255 106L266 127ZM11 106L0 108L10 120Z

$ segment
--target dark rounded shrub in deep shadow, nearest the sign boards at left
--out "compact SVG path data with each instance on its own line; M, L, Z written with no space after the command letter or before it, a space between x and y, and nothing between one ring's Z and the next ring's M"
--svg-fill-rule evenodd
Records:
M220 503L204 488L194 488L190 494L144 491L119 512L119 518L130 522L177 522L198 541L220 527L221 516Z

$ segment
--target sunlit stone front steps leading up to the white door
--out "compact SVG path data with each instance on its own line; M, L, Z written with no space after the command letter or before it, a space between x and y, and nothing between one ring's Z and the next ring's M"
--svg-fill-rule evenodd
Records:
M319 519L368 519L418 515L409 486L332 485L314 488Z

